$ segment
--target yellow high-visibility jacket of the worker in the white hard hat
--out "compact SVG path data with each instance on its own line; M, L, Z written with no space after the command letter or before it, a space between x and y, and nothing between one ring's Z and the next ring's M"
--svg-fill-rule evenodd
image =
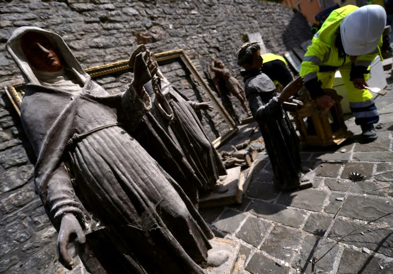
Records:
M338 48L335 46L337 35L340 35L340 24L342 19L357 10L358 7L347 5L338 8L323 22L321 29L314 35L311 45L304 55L300 68L300 76L304 77L305 87L312 98L323 95L321 82L318 78L319 72L335 72L343 65L351 65L351 79L362 78L369 73L369 65L380 53L382 46L382 35L378 47L372 53L360 56L338 57ZM359 22L359 24L362 24ZM350 79L346 79L350 80Z

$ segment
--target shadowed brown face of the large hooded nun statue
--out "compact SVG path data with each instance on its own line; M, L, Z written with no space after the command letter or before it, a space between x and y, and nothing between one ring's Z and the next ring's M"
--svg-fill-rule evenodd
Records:
M55 46L43 34L28 32L21 38L21 48L35 69L43 72L58 72L62 64Z

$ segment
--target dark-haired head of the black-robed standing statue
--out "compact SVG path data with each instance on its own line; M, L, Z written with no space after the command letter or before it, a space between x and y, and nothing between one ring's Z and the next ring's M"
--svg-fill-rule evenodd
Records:
M237 53L237 64L246 71L258 70L263 66L264 59L260 56L260 46L257 43L243 46Z

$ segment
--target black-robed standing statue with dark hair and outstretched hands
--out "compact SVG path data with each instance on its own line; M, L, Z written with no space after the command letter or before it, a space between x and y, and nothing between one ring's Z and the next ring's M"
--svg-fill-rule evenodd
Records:
M302 184L299 139L281 106L303 86L304 80L296 78L276 97L276 86L260 71L263 59L257 43L246 43L241 47L237 52L237 64L244 68L241 75L246 97L265 141L273 168L274 185L280 190L311 187L312 184Z

